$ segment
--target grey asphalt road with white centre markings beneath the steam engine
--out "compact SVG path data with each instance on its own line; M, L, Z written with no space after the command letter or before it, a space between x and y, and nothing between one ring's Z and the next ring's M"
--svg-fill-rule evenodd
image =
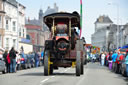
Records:
M0 85L128 85L128 79L98 63L84 66L84 75L75 76L75 68L60 68L51 76L43 75L43 67L0 74Z

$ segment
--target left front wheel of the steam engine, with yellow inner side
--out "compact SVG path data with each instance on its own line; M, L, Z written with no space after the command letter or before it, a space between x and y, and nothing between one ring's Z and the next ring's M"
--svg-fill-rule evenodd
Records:
M44 53L44 75L48 76L50 74L50 54L46 50Z

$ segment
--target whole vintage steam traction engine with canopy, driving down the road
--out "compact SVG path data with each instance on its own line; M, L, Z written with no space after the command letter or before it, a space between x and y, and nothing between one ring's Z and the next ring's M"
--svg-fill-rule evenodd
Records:
M54 13L44 17L51 31L45 41L44 75L48 76L58 67L76 67L76 76L83 74L84 45L76 28L80 29L80 16L73 13Z

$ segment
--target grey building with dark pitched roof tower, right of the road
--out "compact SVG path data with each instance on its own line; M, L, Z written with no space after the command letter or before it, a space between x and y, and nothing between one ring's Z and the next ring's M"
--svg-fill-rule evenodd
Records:
M117 30L118 29L118 30ZM117 33L118 32L118 33ZM95 22L95 33L91 37L92 45L101 51L113 51L128 45L128 24L116 25L108 16L100 16Z

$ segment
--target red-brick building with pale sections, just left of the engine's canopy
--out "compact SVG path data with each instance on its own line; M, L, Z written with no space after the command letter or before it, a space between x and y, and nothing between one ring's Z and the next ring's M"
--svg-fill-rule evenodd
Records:
M26 25L27 39L32 42L33 50L39 52L42 50L45 43L45 35L41 26L38 25Z

